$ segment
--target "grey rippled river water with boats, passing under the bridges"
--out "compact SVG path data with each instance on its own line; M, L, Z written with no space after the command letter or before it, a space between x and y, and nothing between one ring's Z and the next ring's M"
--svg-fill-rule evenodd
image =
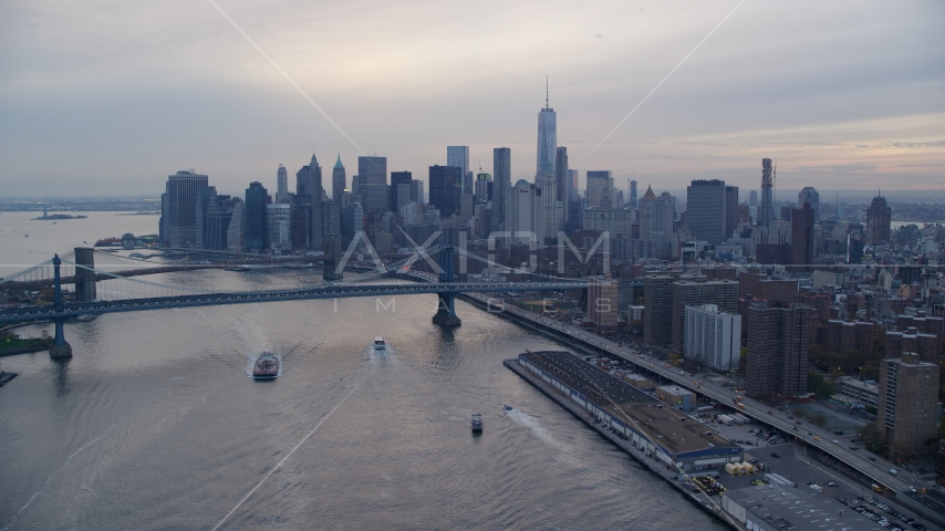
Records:
M0 215L0 275L157 231L153 216L35 216ZM155 277L249 290L318 271ZM435 305L280 302L66 324L72 360L0 358L20 373L0 388L0 530L727 529L501 364L560 345L461 301L463 325L445 331ZM373 353L376 335L393 350ZM249 377L263 350L282 358L273 382Z

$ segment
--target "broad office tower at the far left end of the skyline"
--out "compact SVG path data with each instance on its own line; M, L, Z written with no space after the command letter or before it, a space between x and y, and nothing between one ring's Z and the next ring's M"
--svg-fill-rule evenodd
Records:
M206 175L177 171L167 176L160 198L160 226L170 247L194 247L197 243L197 202L206 187Z

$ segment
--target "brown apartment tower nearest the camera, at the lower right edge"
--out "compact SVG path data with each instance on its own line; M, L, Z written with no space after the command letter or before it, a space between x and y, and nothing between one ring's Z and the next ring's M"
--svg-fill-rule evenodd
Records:
M876 424L899 458L935 438L938 420L938 365L917 354L880 363L880 407ZM905 455L903 455L905 454Z

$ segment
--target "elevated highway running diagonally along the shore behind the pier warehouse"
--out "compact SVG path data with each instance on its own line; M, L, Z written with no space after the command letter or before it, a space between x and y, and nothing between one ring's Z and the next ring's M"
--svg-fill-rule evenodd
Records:
M474 296L482 303L489 303L489 298L487 296L477 296L475 293L469 296ZM491 304L495 306L498 303L500 303L500 301L492 300ZM600 348L603 353L626 360L645 371L658 374L661 377L668 379L681 387L685 387L696 394L717 400L719 404L733 404L736 396L742 396L739 393L718 386L705 378L679 374L679 369L674 371L665 367L665 362L646 356L633 348L622 347L608 339L589 333L588 331L579 327L562 324L552 319L542 317L508 304L502 304L502 310L515 313L519 317L540 323L547 329L557 331L562 336L569 336L572 340L578 340L595 348ZM752 417L756 420L777 428L789 436L802 436L803 434L812 433L813 435L819 436L821 440L817 441L807 437L804 440L808 445L823 451L834 459L839 459L844 465L866 476L878 485L896 492L908 491L910 486L905 481L889 472L890 468L894 468L891 464L880 458L876 459L876 462L868 460L862 454L851 450L844 446L844 444L850 445L850 442L839 439L832 431L810 425L809 423L798 426L795 420L788 419L788 415L786 413L778 412L773 406L769 406L750 398L742 397L741 402L745 404L745 410L739 412L741 415ZM803 431L795 431L795 427L798 427L798 429ZM838 442L834 442L834 440L838 440Z

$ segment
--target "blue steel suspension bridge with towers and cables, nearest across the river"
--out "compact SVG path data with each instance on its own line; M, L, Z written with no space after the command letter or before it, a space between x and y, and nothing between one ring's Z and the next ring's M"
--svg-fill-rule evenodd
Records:
M110 272L95 268L96 256L138 263L134 269ZM529 280L460 282L455 273L454 262L457 258L464 261L482 262L492 271L521 273L521 277ZM415 269L414 264L420 260L434 272ZM371 266L349 268L356 269L355 274L343 279L340 272L344 269L345 262L339 266L339 261L330 257L310 257L303 261L323 263L323 277L320 279L312 275L311 285L261 291L210 291L159 283L136 277L172 271L224 269L226 264L209 262L158 264L148 260L108 254L91 248L76 248L63 256L56 254L42 263L0 279L0 290L7 293L40 290L45 294L33 304L0 310L0 323L52 321L55 324L55 341L50 347L50 355L68 357L72 355L72 347L65 341L63 323L83 315L222 304L436 293L438 305L433 322L444 326L456 326L460 324L460 320L456 315L455 299L464 293L586 290L588 287L585 279L512 270L453 244L436 244L428 248L415 246L412 256L387 263L375 257ZM146 262L147 266L141 262ZM423 264L422 262L420 266ZM391 278L399 281L385 282L385 279ZM404 280L411 282L404 282ZM64 289L70 285L71 290Z

